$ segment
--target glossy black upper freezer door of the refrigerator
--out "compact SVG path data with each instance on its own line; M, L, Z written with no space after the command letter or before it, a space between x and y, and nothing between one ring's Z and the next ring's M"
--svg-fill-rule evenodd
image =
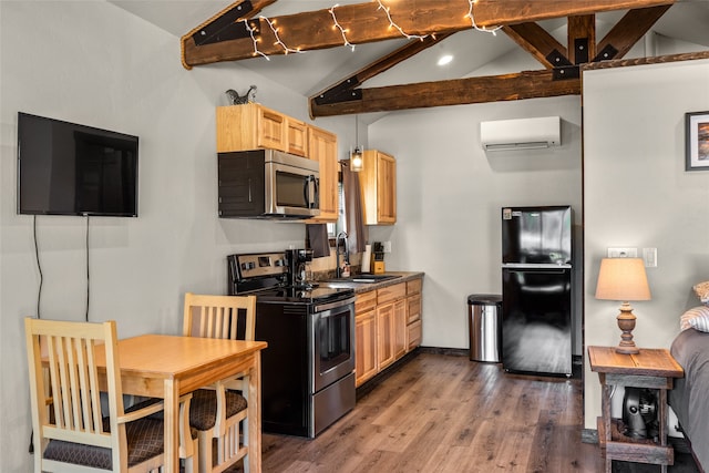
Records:
M502 263L572 263L572 207L502 209Z

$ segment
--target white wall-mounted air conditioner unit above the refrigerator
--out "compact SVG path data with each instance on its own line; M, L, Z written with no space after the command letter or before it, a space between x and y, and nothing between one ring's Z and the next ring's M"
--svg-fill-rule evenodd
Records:
M558 116L481 122L480 141L485 151L534 150L561 146Z

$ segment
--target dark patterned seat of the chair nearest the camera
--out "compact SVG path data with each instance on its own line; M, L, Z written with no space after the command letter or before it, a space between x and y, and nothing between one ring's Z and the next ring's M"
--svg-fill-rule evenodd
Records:
M104 430L109 430L107 418ZM163 453L163 422L154 419L140 419L125 424L129 444L129 466L140 464ZM81 443L51 440L44 450L47 460L112 470L111 449Z

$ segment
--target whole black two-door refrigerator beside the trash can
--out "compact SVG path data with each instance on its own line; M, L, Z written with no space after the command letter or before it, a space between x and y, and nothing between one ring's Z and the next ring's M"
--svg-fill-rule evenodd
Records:
M502 208L502 366L572 374L572 207Z

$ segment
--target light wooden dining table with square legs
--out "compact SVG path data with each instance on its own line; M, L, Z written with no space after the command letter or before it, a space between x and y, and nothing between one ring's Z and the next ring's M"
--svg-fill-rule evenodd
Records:
M260 350L264 341L142 335L119 340L125 394L164 400L165 471L179 471L179 397L222 379L248 376L248 464L261 471ZM96 364L105 367L104 352Z

